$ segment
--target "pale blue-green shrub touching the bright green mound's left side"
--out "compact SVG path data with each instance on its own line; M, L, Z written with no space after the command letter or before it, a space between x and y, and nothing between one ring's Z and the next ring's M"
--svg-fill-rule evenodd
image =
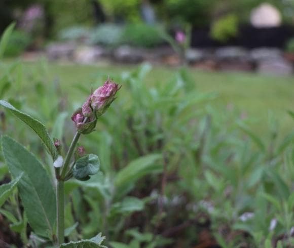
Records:
M123 27L116 24L99 25L90 36L90 44L117 46L122 40Z

